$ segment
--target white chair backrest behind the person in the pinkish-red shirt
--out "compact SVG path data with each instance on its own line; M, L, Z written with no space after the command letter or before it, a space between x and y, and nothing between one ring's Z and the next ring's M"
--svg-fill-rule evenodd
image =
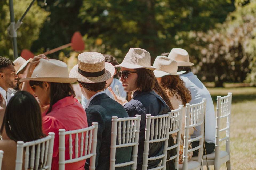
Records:
M59 169L64 170L65 164L78 162L88 158L90 158L89 169L95 169L97 132L97 122L93 122L92 126L77 130L65 131L65 129L59 129ZM65 160L65 135L69 135L69 159L67 160ZM73 146L72 135L75 138L75 146ZM78 155L79 146L80 154ZM73 147L75 148L75 158L73 158Z

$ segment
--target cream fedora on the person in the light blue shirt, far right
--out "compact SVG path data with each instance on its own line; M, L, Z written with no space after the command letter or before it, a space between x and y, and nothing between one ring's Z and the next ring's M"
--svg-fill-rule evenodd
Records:
M178 62L178 66L190 67L194 64L189 62L189 53L182 48L173 48L168 57Z

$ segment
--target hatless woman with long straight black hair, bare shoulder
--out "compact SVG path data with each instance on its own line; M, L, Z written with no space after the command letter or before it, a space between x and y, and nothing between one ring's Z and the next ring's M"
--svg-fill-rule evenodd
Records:
M4 151L2 169L15 169L16 142L29 142L44 137L40 107L35 97L26 91L17 92L8 102L1 101L3 115L0 133L0 150Z

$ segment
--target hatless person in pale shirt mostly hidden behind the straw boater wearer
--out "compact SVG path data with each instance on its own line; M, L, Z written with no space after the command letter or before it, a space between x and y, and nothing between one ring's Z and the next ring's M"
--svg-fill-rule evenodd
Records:
M105 57L105 62L111 63L113 66L119 64L117 59L115 57L113 57L112 55L103 54L103 56ZM126 99L126 92L123 89L122 82L119 79L115 78L116 74L117 74L117 69L115 69L114 75L111 78L107 79L106 86L105 86L105 89L103 92L106 93L111 99L114 99L114 96L107 89L108 87L111 87L111 90L113 90L116 93L116 95L121 96L124 99ZM86 97L84 95L82 95L81 104L83 105L84 108L86 107L87 103L89 103L88 100L86 99Z

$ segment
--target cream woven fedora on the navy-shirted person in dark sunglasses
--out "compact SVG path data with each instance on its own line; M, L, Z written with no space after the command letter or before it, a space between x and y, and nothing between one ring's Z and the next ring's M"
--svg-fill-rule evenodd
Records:
M155 67L150 66L150 54L141 48L130 48L123 62L115 67L125 67L127 69L144 68L155 70Z

